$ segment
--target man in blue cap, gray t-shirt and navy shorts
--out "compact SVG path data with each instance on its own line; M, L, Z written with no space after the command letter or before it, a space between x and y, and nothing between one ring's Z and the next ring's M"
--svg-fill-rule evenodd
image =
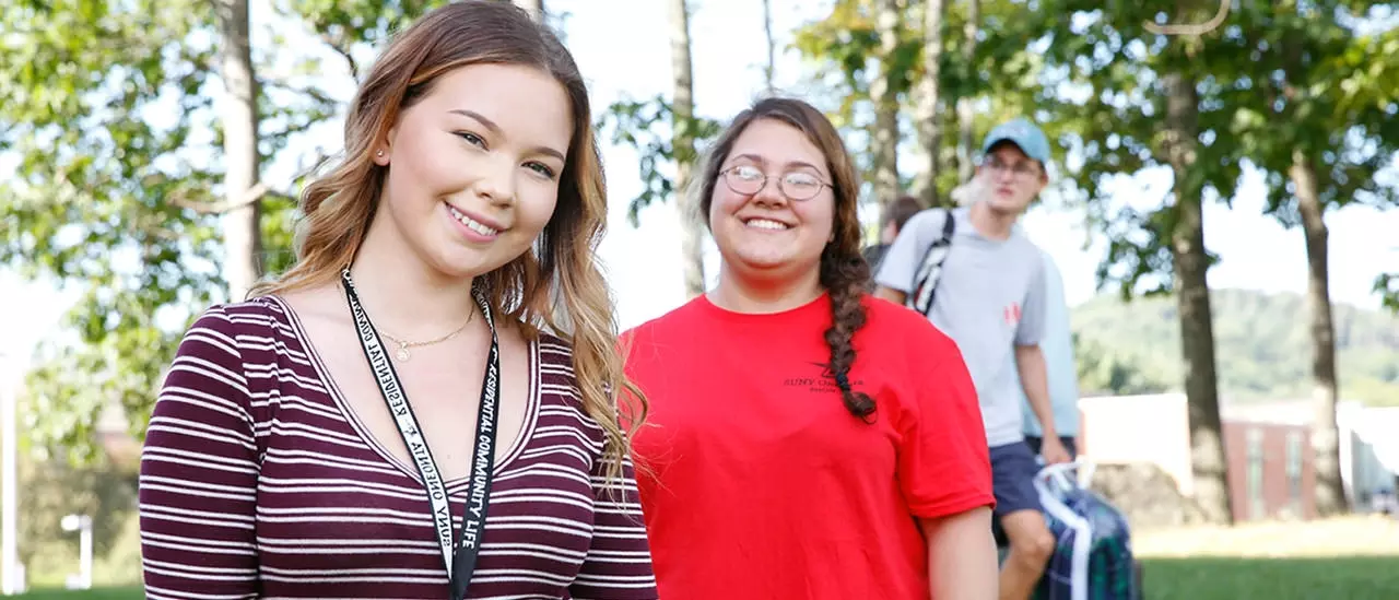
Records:
M911 218L874 278L876 295L897 303L911 294L923 298L922 290L935 292L926 315L957 341L977 386L990 445L995 515L1010 541L1000 573L1002 600L1030 597L1055 545L1032 484L1039 466L1025 445L1017 387L1041 422L1045 463L1069 460L1055 431L1039 351L1044 259L1014 227L1049 182L1048 162L1049 141L1028 120L993 129L982 144L977 175L954 193L970 206L925 210ZM921 269L937 257L940 269ZM930 283L919 285L925 277Z

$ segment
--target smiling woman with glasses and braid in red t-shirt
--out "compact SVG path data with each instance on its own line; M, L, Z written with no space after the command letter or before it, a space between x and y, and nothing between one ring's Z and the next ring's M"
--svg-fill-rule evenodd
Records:
M764 99L700 176L719 285L624 343L660 597L995 597L977 393L950 338L865 292L835 127Z

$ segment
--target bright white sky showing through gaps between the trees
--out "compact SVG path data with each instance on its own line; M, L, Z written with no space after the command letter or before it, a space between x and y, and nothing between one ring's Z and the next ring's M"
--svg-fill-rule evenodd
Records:
M269 22L267 0L253 0L255 46L266 39L264 29L284 25ZM554 13L567 13L567 43L590 84L595 112L621 97L648 98L670 94L672 67L666 1L658 0L546 0ZM774 1L774 31L778 42L790 41L804 21L825 14L828 0ZM765 62L761 3L754 0L691 0L691 56L697 112L727 119L741 110L762 88ZM623 18L628 22L623 25ZM646 24L646 25L641 25ZM292 38L295 39L295 38ZM361 64L367 63L361 60ZM327 63L332 92L348 99L348 78ZM776 66L778 88L792 88L809 73L795 52L782 53ZM313 147L339 150L340 122L313 129L264 172L273 182L290 180L295 151L313 154ZM606 143L607 140L603 140ZM680 270L679 228L670 206L653 206L641 214L641 228L625 220L627 201L641 189L638 158L627 148L604 145L610 232L600 259L618 302L623 329L658 317L684 302ZM0 161L3 162L3 161ZM1154 204L1170 187L1170 175L1143 173L1114 189L1116 201ZM1205 211L1206 246L1221 262L1210 270L1214 288L1247 288L1267 292L1302 292L1307 262L1300 231L1284 229L1262 215L1263 186L1258 176L1245 180L1233 208L1210 204ZM1027 234L1056 260L1065 278L1070 305L1093 298L1094 271L1105 242L1090 236L1077 210L1056 208L1046 201L1023 220ZM865 215L874 218L873 214ZM1377 274L1399 271L1399 211L1379 213L1354 207L1328 215L1330 228L1330 292L1337 302L1377 308L1371 292ZM1087 242L1087 243L1086 243ZM709 245L706 276L712 283L718 255ZM14 273L0 271L0 355L17 357L21 369L35 343L57 331L62 313L73 294L57 292L50 283L24 283ZM3 358L0 358L3 361Z

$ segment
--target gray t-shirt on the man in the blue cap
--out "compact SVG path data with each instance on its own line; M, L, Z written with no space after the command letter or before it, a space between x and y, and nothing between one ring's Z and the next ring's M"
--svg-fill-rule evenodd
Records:
M1018 228L1009 239L988 239L972 227L968 208L951 214L957 229L929 320L961 350L981 399L986 442L1003 446L1024 439L1011 354L1014 345L1039 344L1044 333L1044 259ZM874 281L907 294L928 248L943 235L946 215L942 208L914 215L884 253Z

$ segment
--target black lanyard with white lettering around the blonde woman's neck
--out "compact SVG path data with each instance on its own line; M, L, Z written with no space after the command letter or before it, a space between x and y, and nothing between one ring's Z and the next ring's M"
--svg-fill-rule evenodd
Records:
M466 587L471 583L471 572L476 571L476 558L481 552L481 531L485 527L485 508L491 501L491 470L495 467L495 424L501 404L501 348L495 336L495 320L491 317L491 308L480 292L474 292L476 303L481 306L481 316L491 329L491 354L485 364L485 380L481 383L481 408L476 418L476 456L471 460L471 480L467 491L466 513L462 515L462 543L457 545L452 534L452 506L448 502L446 485L438 471L432 450L428 449L427 439L418 427L418 418L409 406L409 397L399 382L399 373L393 371L389 352L379 341L379 333L369 323L360 295L354 291L354 281L350 280L350 269L340 271L340 281L346 288L346 298L350 301L350 315L354 316L355 330L360 333L360 345L374 378L379 382L379 392L383 401L389 404L389 414L399 424L399 434L403 445L413 455L413 462L422 476L422 487L428 491L428 502L432 505L432 524L436 530L438 543L442 545L442 562L446 565L452 583L452 600L466 597Z

